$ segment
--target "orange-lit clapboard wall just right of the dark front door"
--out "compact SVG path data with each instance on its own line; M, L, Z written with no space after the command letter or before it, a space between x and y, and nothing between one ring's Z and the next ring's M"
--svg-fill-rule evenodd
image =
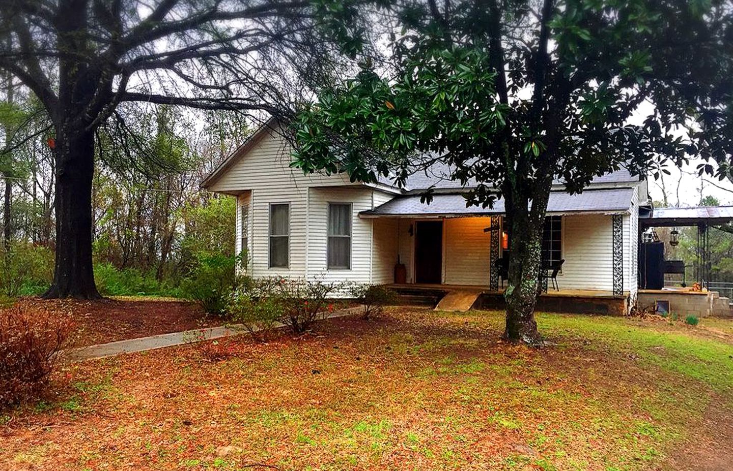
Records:
M488 217L461 217L443 222L443 282L447 285L488 285L491 225Z

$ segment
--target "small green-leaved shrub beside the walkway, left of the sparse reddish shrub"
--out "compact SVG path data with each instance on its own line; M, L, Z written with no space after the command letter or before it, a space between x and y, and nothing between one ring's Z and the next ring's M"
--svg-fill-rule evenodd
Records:
M276 285L279 279L243 279L235 289L226 313L233 323L244 325L249 334L262 341L285 313L285 304Z

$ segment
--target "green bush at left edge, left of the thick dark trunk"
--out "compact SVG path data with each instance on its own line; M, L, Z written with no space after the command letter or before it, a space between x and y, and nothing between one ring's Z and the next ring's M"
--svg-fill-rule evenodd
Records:
M15 241L7 253L0 253L0 287L5 295L40 294L51 285L54 252L48 247Z

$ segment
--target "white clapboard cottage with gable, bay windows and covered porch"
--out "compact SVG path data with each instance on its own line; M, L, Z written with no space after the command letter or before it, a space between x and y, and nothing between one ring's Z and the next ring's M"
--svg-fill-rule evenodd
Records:
M305 176L290 167L287 141L266 125L202 186L237 197L237 251L248 251L255 277L394 284L399 260L404 285L498 293L509 249L500 229L503 203L466 208L463 188L448 177L446 167L434 165L399 189L389 181L352 183L345 174ZM430 205L420 202L427 188L434 189ZM558 184L543 257L548 265L564 263L559 290L550 285L548 295L623 299L627 309L636 299L639 206L648 201L647 182L625 170L596 178L580 195Z

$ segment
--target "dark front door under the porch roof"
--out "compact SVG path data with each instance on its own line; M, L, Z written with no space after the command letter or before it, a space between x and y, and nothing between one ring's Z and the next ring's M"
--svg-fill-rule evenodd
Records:
M443 221L415 223L415 282L443 282Z

